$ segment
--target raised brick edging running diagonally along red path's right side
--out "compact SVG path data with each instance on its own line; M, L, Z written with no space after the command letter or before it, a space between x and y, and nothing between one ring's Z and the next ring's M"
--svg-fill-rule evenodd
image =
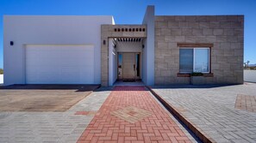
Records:
M176 109L172 104L168 104L164 98L161 98L156 92L152 90L150 86L147 86L150 92L160 101L160 103L164 104L165 107L172 112L172 114L183 122L187 128L189 128L197 137L205 143L215 143L216 141L209 137L209 135L205 134L200 128L197 127L193 122L190 122L188 118L179 113L178 109Z

